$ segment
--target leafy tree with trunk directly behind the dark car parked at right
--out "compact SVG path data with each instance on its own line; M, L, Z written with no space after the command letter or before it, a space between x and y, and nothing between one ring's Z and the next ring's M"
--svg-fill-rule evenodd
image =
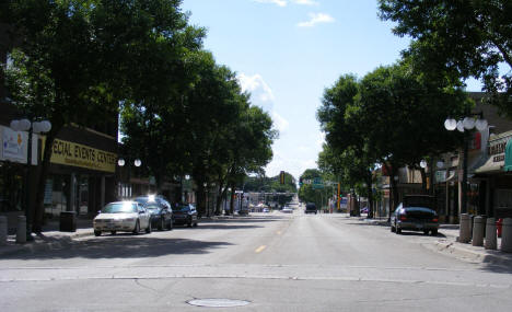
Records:
M357 105L350 118L364 125L364 137L375 160L392 176L398 167L417 165L427 155L438 155L462 143L459 134L447 134L447 116L468 111L467 94L450 80L424 79L407 60L380 67L361 80ZM394 204L396 182L391 178Z

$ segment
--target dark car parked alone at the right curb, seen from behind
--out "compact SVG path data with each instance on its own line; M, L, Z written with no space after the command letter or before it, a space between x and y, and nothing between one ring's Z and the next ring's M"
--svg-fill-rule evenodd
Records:
M437 235L438 229L438 213L428 207L404 207L404 204L400 204L391 216L391 231L397 234L400 234L402 230L409 230Z

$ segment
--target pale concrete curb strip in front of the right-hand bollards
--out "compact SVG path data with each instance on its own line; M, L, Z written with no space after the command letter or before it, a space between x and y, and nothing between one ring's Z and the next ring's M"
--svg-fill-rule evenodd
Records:
M422 244L422 246L439 253L450 254L469 262L486 263L493 265L512 265L512 254L501 251L484 250L482 247L473 247L469 244L452 242L449 240L439 240L432 244Z

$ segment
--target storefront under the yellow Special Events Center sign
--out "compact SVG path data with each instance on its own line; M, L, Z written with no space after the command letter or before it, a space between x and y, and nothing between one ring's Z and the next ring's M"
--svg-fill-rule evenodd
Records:
M105 203L116 200L116 138L69 127L55 139L45 186L45 216L61 211L95 216Z

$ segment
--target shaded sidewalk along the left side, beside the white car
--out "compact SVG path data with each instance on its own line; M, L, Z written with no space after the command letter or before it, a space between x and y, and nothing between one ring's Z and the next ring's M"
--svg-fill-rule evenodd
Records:
M75 232L60 232L59 220L50 220L43 227L43 233L32 234L34 241L16 244L16 235L8 235L7 244L0 245L0 258L21 251L39 252L60 249L73 239L93 235L91 219L77 219Z

